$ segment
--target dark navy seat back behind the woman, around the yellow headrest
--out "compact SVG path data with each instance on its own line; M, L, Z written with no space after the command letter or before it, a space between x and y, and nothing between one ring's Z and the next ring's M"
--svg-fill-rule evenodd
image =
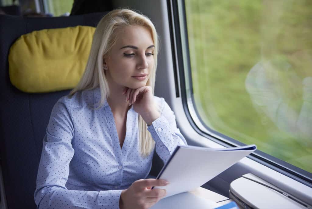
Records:
M106 13L56 18L0 15L0 157L8 208L36 208L33 195L46 126L56 101L70 91L28 94L16 89L8 74L10 46L34 30L96 26Z

